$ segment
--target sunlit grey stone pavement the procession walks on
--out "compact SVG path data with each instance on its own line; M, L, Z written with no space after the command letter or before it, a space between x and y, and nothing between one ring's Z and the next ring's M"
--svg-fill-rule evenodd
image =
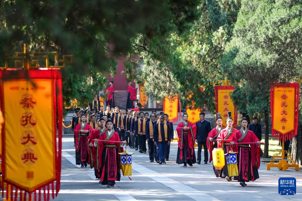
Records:
M237 181L216 178L212 164L203 164L203 152L201 165L184 168L176 164L176 142L171 143L170 159L163 165L149 162L148 151L143 154L134 149L128 150L134 152L132 181L122 176L115 187L107 188L98 183L89 165L87 168L74 165L73 137L63 137L61 190L56 200L301 200L302 173L293 168L267 171L266 164L261 163L260 178L242 187ZM296 178L296 195L278 194L279 177Z

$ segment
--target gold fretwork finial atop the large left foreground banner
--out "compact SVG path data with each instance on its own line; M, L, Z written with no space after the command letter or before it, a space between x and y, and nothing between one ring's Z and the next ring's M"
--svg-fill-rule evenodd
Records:
M50 65L49 55L53 55L55 63ZM45 59L45 66L39 64L39 59ZM15 66L8 66L8 61L14 61ZM28 44L24 44L23 52L5 54L4 67L0 68L23 68L26 70L37 68L64 68L67 63L72 63L72 55L63 55L63 59L58 59L58 52L30 52ZM13 63L13 62L11 62Z

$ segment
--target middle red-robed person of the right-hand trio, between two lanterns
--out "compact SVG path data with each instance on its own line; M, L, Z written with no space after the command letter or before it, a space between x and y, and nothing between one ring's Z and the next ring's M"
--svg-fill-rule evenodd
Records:
M223 129L217 137L217 147L222 148L224 153L228 153L230 150L236 152L236 147L231 147L230 142L233 141L235 133L238 131L236 128L233 128L233 119L231 117L231 112L229 111L229 117L226 119L226 128ZM232 181L232 177L229 177L229 172L226 164L226 157L224 157L225 165L222 170L220 170L219 176L226 178L227 181Z

